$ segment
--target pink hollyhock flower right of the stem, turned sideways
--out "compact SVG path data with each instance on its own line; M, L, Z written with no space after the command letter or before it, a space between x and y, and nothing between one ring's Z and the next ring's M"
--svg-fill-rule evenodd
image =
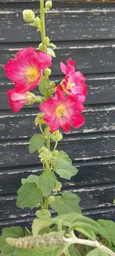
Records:
M60 63L61 70L66 74L63 86L69 95L77 97L83 103L87 95L88 85L84 84L86 81L84 75L79 71L76 72L74 66L75 62L71 59L67 60L67 66L64 63Z

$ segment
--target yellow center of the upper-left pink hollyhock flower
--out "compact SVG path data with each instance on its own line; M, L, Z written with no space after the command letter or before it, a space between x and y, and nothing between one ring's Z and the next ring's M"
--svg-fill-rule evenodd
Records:
M28 67L26 71L26 78L29 83L36 81L39 77L39 70L37 67Z

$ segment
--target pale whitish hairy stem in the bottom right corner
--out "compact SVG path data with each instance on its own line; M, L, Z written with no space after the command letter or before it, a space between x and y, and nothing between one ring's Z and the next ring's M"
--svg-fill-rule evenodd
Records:
M72 233L72 234L73 234L73 236L71 238L64 239L66 241L66 243L70 243L70 244L77 243L77 244L88 245L90 247L96 247L96 248L99 248L100 250L102 250L103 252L106 252L106 254L109 254L110 256L115 256L115 253L113 251L111 251L110 248L106 247L102 243L99 243L97 240L92 241L92 240L79 239L74 235L74 233Z

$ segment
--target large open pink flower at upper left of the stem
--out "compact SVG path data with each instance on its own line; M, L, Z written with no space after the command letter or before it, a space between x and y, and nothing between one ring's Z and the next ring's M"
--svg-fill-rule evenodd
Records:
M40 82L43 71L51 65L52 57L49 54L30 47L17 52L15 59L9 59L5 72L16 88L31 91Z

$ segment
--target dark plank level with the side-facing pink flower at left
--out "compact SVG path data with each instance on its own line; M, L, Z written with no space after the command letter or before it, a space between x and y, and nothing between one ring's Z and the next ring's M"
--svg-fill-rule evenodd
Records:
M102 104L102 103L115 103L115 74L105 74L105 75L86 75L88 84L88 96L86 100L86 105L89 104ZM58 84L62 81L62 77L52 77ZM0 103L1 110L9 110L8 99L6 93L9 89L13 88L12 81L5 78L0 78ZM34 90L38 94L38 89ZM38 107L37 105L31 106L32 108ZM25 108L30 108L30 106L25 106ZM16 115L17 116L17 115Z

